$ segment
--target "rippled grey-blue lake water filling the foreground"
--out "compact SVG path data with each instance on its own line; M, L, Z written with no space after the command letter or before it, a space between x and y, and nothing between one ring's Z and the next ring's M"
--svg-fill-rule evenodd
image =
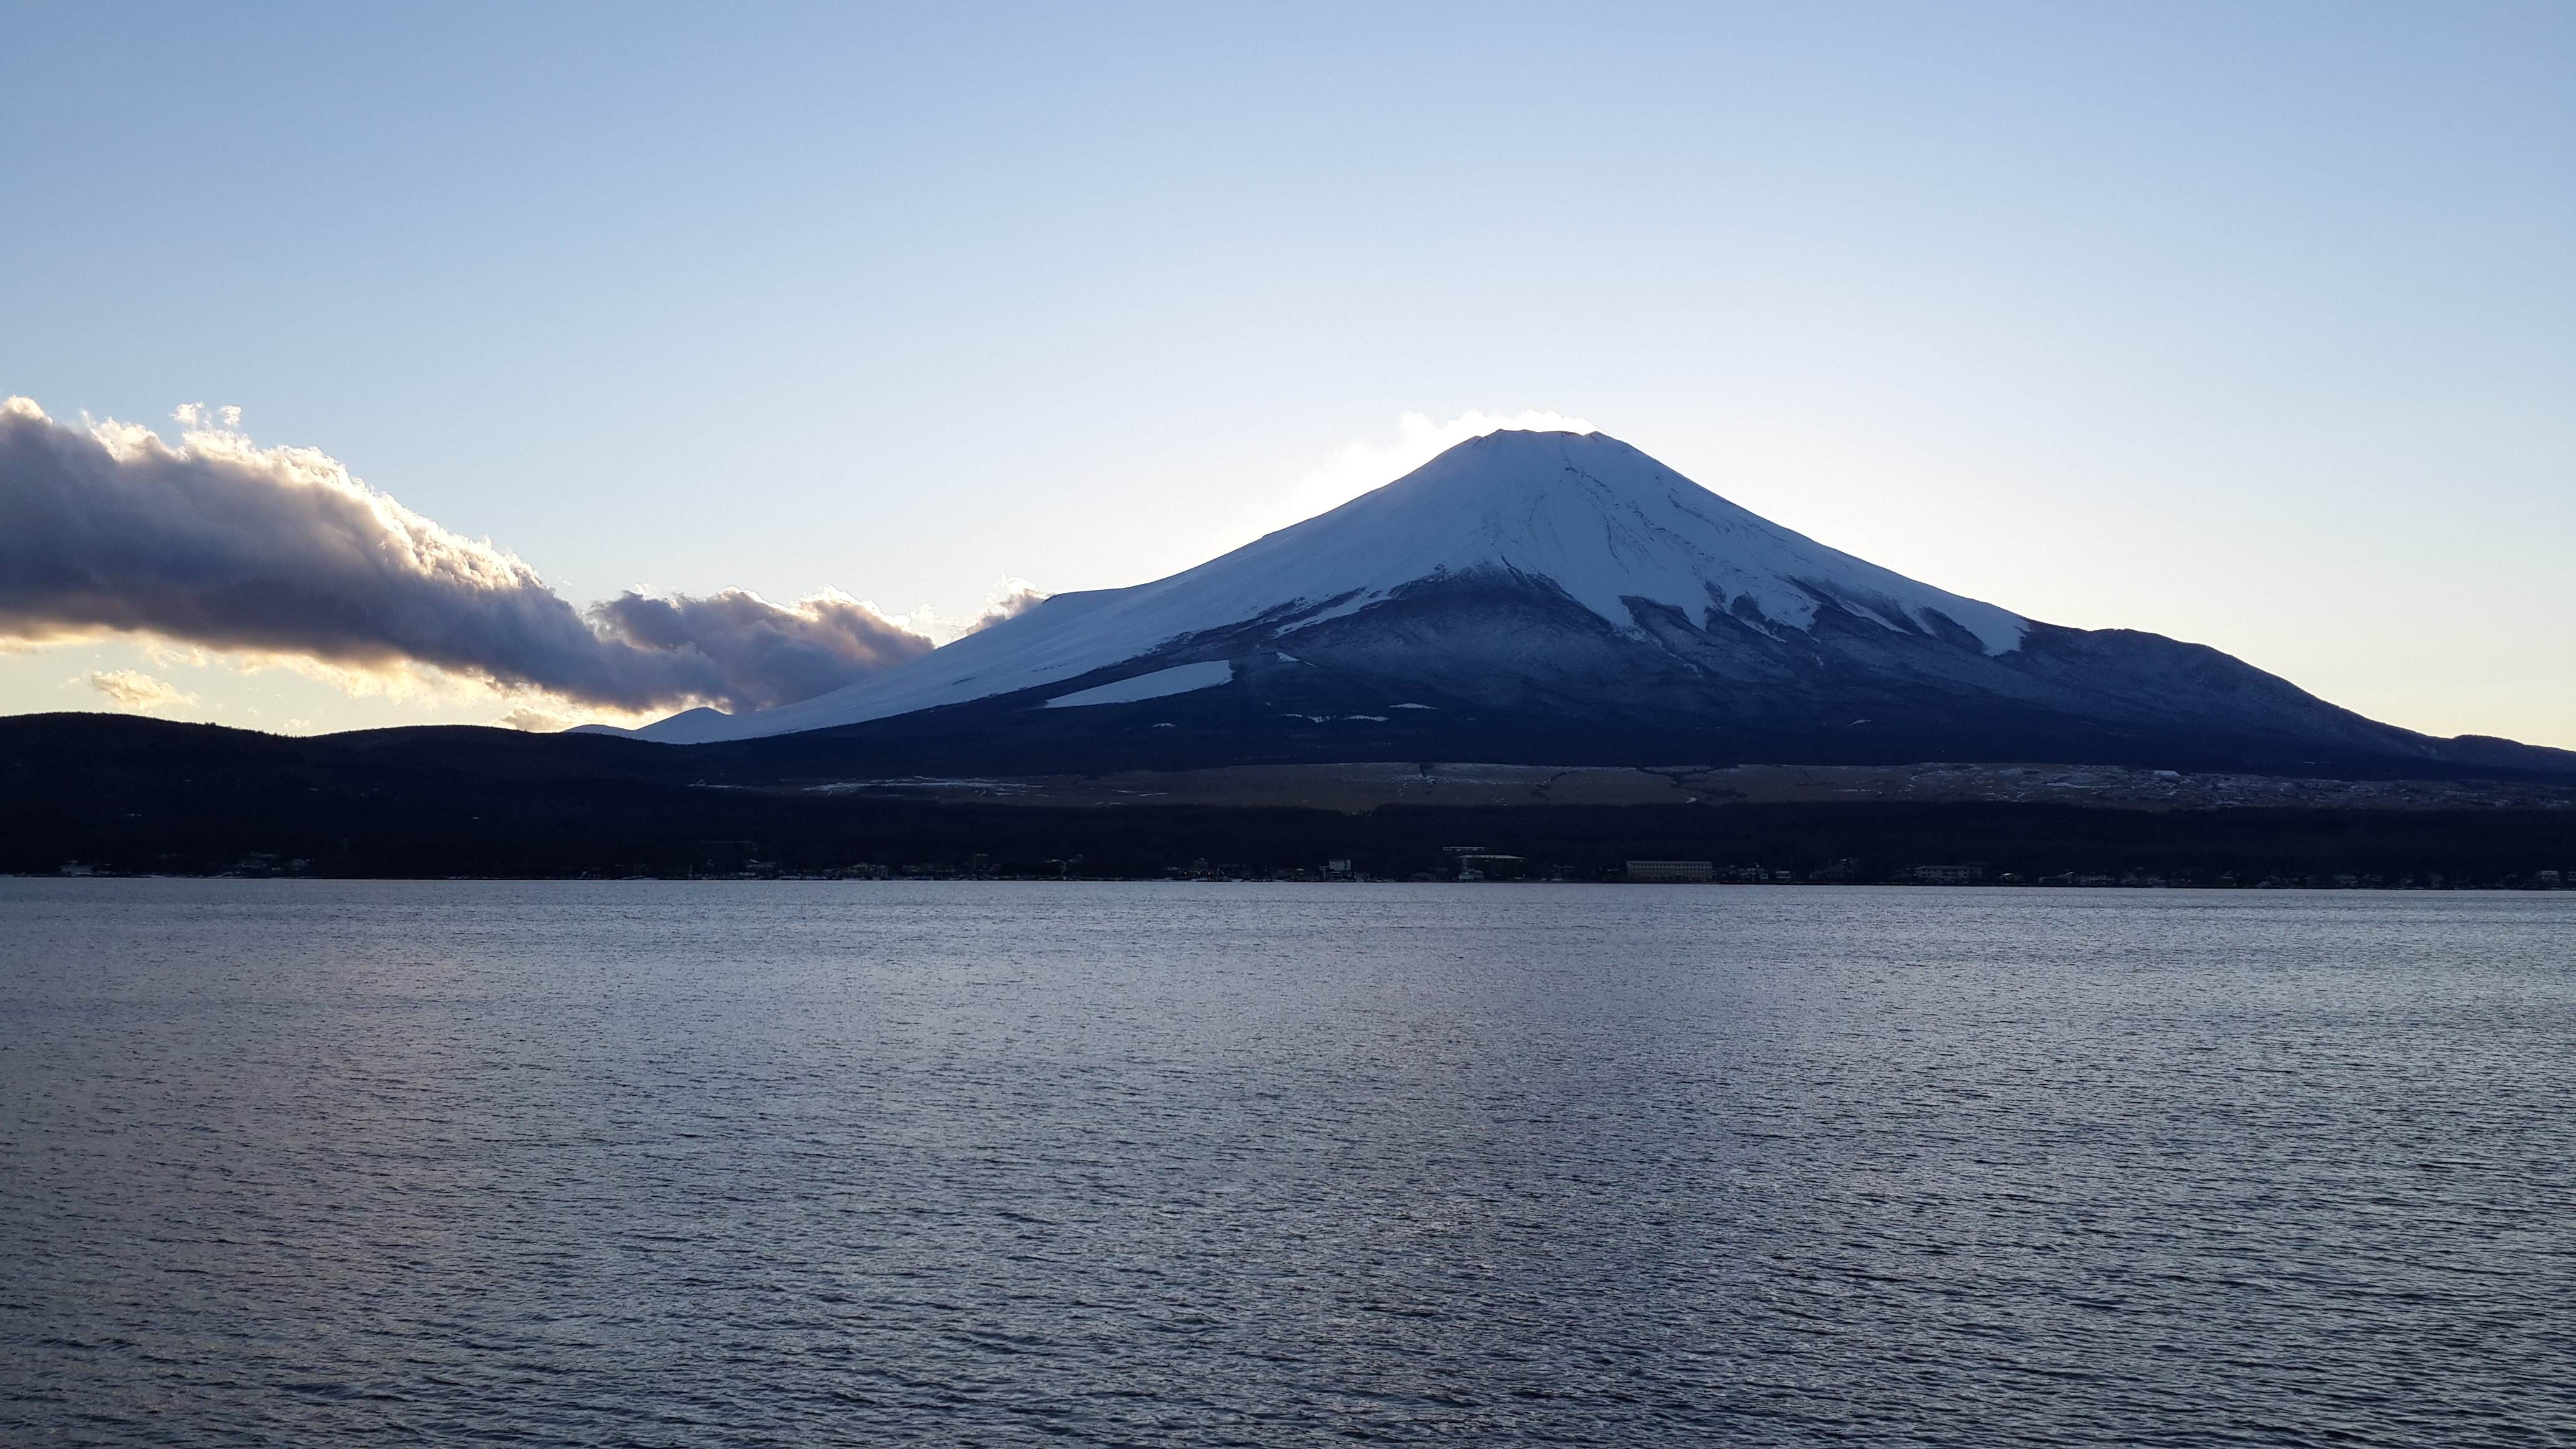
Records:
M8 1444L2568 1444L2576 897L0 882Z

